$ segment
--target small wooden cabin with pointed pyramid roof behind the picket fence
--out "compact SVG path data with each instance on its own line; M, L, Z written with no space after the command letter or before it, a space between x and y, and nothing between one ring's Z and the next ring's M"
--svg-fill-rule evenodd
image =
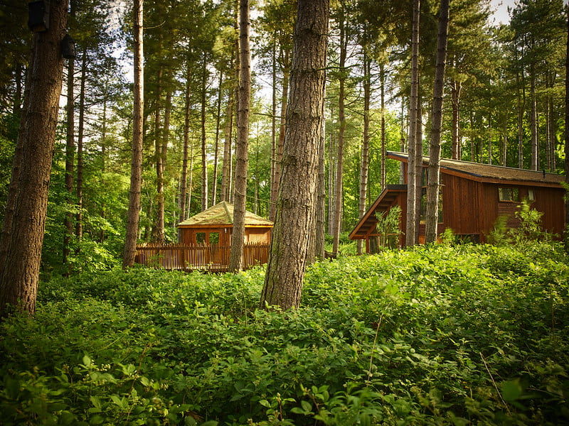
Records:
M245 212L245 244L269 244L273 223ZM222 201L178 224L179 241L194 244L231 245L233 204Z

